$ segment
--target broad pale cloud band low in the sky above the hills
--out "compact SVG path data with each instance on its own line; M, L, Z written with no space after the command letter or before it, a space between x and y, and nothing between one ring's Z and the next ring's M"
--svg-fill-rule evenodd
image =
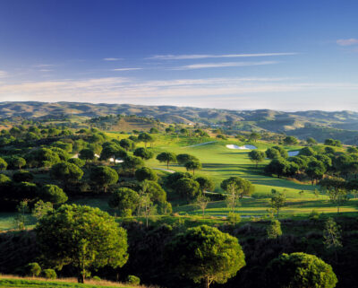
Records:
M325 95L332 91L354 94L358 92L358 84L305 83L297 79L267 77L174 79L144 82L124 77L107 77L17 84L0 83L1 100L71 101L76 99L90 102L172 103L173 105L174 103L177 105L207 103L209 98L216 101L225 97L240 100L243 97L250 98L249 95L257 93L262 94L262 99L266 99L269 93L276 95L278 92L304 94L311 92ZM239 102L236 104L238 105ZM222 102L220 105L224 107L226 104ZM234 108L230 105L226 107ZM254 102L252 104L251 101L251 105L255 105Z

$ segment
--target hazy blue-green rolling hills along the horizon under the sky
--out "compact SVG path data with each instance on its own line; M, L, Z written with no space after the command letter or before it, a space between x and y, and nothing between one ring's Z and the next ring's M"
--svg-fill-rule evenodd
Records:
M0 118L97 118L107 115L137 115L166 123L200 123L230 130L267 130L312 136L319 141L337 138L358 144L358 112L309 110L284 112L270 109L229 110L132 104L91 104L79 102L0 102Z

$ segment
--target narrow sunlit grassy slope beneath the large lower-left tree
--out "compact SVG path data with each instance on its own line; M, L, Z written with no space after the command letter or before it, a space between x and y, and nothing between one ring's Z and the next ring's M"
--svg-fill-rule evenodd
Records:
M45 278L30 278L18 277L13 275L1 275L0 287L33 287L33 288L108 288L108 287L122 287L122 288L135 288L145 286L132 285L132 284L119 284L115 282L100 280L89 280L86 284L78 284L75 278L64 278L57 280L49 280Z

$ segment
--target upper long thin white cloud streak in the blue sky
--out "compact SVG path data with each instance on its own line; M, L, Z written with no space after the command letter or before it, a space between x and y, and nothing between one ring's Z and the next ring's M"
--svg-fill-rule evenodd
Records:
M285 53L251 53L251 54L222 54L222 55L211 55L211 54L190 54L190 55L155 55L148 57L147 59L158 59L158 60L185 60L185 59L205 59L205 58L236 58L236 57L272 57L272 56L291 56L297 55L296 52L285 52Z

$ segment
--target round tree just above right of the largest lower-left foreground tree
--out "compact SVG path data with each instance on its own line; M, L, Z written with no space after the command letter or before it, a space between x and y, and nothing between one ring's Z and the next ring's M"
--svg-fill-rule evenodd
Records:
M130 188L116 189L108 200L108 205L118 209L121 216L132 216L139 204L140 196Z

